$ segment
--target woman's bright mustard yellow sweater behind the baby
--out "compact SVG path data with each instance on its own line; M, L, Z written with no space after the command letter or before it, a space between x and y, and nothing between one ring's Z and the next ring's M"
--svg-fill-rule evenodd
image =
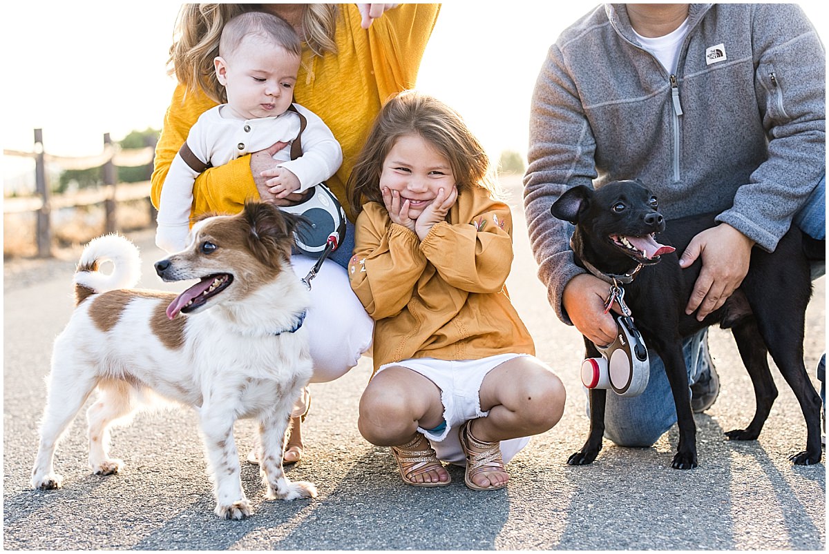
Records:
M322 57L303 49L294 100L317 113L342 146L343 161L327 185L350 212L346 182L381 104L414 87L420 60L440 10L439 4L402 4L376 19L366 31L354 4L342 4L337 21L337 54ZM187 94L186 94L187 93ZM153 205L158 207L167 170L196 119L216 103L179 84L164 116L153 169ZM236 213L246 199L259 198L250 175L250 157L208 169L193 188L194 215ZM351 213L349 219L353 220Z

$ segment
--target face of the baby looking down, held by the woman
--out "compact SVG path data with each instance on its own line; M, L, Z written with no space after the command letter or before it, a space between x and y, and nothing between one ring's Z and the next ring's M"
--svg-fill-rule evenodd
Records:
M299 57L259 36L243 39L226 58L215 60L227 104L242 119L281 115L293 100Z

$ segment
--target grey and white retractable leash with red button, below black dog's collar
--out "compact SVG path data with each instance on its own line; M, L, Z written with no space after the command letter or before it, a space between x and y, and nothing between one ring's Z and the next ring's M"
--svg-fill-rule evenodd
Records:
M586 388L609 388L623 397L635 397L647 387L650 364L642 334L633 325L630 308L624 302L624 289L610 277L610 296L604 313L613 302L622 309L616 318L616 338L607 346L596 345L601 358L588 358L581 364L581 382Z

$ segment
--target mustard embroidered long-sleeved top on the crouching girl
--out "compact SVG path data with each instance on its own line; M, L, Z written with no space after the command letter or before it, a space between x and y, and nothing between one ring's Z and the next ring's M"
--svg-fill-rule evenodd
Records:
M487 190L463 190L447 222L421 242L370 202L357 217L354 289L376 320L374 369L410 358L480 359L535 354L512 306L512 218Z

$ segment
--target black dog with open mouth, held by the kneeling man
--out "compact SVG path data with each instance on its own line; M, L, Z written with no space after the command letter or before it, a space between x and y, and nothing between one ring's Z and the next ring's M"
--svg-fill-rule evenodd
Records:
M701 262L697 259L682 270L677 253L669 253L671 248L662 248L655 241L655 234L666 231L666 223L657 211L656 198L641 181L613 181L599 190L576 186L561 195L550 211L556 218L576 225L572 244L580 267L608 282L612 281L608 276L633 275L633 281L623 285L624 300L645 344L665 362L676 403L679 446L671 464L675 469L687 470L697 464L696 425L682 338L715 323L732 330L757 400L749 426L727 432L726 436L739 441L759 436L778 394L768 369L768 353L794 391L806 419L806 450L790 459L797 465L817 464L821 460L821 400L803 365L803 329L812 283L799 229L793 225L773 253L754 248L749 273L740 287L724 306L704 321L697 321L696 315L686 315L685 308ZM714 214L676 219L667 225L659 240L681 253L691 238L714 225ZM657 263L660 259L662 263ZM593 343L586 338L584 343L586 357L599 356ZM570 456L568 464L589 464L599 454L605 397L604 389L590 389L589 436L582 449Z

